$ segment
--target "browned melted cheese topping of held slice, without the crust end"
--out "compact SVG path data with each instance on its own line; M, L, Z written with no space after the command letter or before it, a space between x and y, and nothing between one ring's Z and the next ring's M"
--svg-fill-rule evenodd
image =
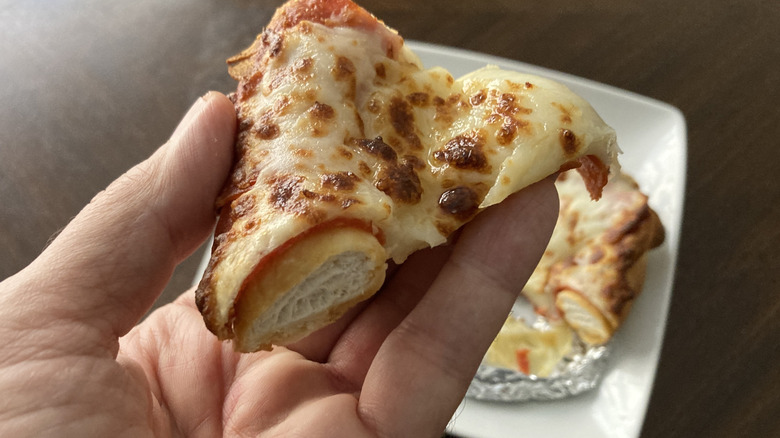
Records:
M394 32L360 17L288 28L275 17L232 67L238 161L198 290L221 337L245 279L311 227L368 223L400 263L583 157L616 166L614 132L563 85L495 67L458 80L424 70Z

